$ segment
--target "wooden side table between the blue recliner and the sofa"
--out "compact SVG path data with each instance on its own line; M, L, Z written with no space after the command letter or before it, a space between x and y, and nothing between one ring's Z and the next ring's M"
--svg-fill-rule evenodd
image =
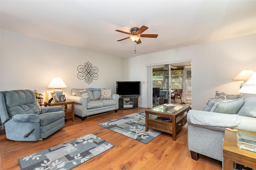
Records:
M72 105L72 110L67 108L67 105ZM72 121L75 121L75 102L74 101L64 101L64 102L58 102L58 103L47 103L44 102L44 107L47 106L62 106L65 105L65 119L70 119L72 118Z

